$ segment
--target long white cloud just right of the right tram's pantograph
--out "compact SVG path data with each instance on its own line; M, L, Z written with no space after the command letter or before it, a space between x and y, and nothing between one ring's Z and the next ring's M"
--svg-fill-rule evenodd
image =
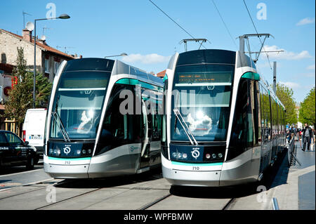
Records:
M287 51L278 46L268 46L265 45L263 51L284 51L284 52L270 52L268 53L270 59L279 59L279 60L301 60L303 58L312 58L312 55L308 51L301 51L300 53L294 53L292 51ZM265 53L261 53L261 57L265 57Z

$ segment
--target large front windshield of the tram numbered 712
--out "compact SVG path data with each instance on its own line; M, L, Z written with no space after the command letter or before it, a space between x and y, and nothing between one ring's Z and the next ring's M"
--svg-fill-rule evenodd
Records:
M65 72L55 93L51 118L50 138L96 138L110 72ZM63 129L63 130L61 130Z

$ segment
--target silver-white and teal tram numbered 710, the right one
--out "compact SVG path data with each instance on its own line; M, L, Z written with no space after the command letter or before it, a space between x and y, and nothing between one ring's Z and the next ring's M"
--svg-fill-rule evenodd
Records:
M244 53L176 53L164 77L162 172L173 185L260 180L285 146L285 108Z

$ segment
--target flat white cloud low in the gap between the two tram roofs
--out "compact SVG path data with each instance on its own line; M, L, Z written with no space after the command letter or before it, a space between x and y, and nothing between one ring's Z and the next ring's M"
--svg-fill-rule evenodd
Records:
M132 53L130 55L125 56L122 58L124 62L134 63L134 62L141 62L143 64L155 64L160 62L168 62L171 56L162 56L158 55L157 53L151 53L148 55L141 55L140 53Z

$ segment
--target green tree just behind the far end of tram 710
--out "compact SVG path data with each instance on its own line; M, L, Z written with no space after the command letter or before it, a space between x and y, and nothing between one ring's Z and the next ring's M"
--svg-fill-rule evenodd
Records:
M285 110L285 122L286 124L296 124L296 109L295 109L295 100L293 98L293 90L283 84L277 84L277 98L283 103Z

